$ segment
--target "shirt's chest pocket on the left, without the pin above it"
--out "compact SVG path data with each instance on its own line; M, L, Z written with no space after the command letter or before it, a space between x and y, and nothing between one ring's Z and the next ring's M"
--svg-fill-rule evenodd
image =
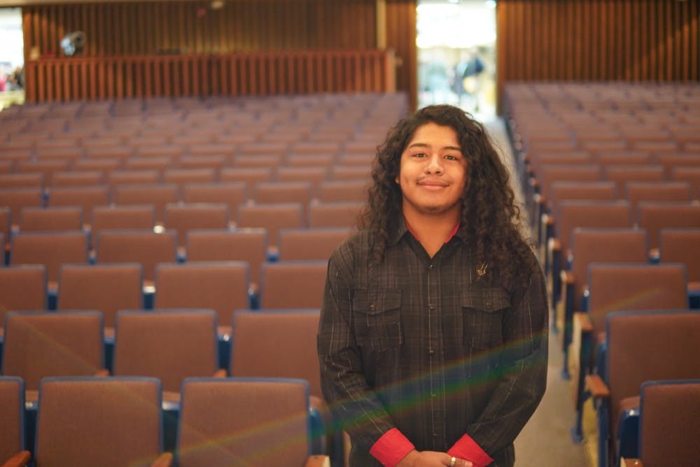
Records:
M355 335L361 347L382 351L401 344L399 289L356 290L352 309Z

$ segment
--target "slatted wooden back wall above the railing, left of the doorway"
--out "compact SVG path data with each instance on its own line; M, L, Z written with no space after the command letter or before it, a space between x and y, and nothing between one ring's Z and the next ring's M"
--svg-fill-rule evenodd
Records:
M83 56L375 48L374 0L124 1L30 5L26 60L60 55L64 34L85 32Z

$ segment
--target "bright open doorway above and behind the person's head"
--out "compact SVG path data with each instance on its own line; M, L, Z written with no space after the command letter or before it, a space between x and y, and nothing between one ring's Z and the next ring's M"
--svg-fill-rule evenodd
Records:
M496 115L496 1L418 0L418 106Z

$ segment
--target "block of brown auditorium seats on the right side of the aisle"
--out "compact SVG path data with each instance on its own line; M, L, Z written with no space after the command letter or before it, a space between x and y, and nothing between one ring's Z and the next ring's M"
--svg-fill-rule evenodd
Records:
M506 86L524 204L571 382L572 433L596 466L645 460L640 386L700 378L700 359L688 351L700 326L692 309L700 280L696 102L697 85ZM623 405L633 417L619 422ZM645 465L696 462L687 450L661 452L666 463L650 454Z

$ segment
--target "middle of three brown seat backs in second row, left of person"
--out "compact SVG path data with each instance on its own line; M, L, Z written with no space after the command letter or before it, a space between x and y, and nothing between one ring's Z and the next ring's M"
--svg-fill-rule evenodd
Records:
M116 376L157 377L164 391L177 392L186 377L213 376L217 357L213 310L123 310L117 314Z

